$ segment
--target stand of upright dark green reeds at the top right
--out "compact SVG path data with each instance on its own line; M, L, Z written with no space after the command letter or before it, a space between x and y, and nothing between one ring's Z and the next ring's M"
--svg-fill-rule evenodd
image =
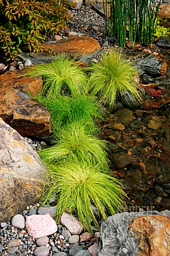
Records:
M161 0L111 0L109 7L103 0L105 26L109 37L115 37L117 45L129 41L150 44L156 27L156 17Z

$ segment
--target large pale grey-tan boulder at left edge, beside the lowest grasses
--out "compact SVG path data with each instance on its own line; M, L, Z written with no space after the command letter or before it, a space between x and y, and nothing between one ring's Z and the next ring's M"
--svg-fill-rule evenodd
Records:
M0 223L38 198L44 174L38 154L0 118Z

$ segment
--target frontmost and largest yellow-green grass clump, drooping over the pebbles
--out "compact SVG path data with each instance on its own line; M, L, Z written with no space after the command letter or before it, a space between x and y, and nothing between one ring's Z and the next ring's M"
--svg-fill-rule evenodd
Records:
M102 159L101 159L102 161ZM49 165L46 176L44 204L50 197L57 198L56 218L63 212L77 214L84 229L92 232L90 218L99 227L91 205L95 205L101 218L124 210L125 193L122 183L111 175L100 172L98 165L75 161Z

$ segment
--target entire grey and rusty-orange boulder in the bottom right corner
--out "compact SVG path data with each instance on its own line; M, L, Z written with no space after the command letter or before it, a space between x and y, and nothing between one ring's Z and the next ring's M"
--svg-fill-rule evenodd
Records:
M101 223L98 256L169 255L169 215L170 212L166 210L163 212L124 212L109 217ZM138 221L140 218L141 222ZM139 238L141 236L145 237L143 244L144 240ZM142 252L141 248L148 248L147 246L149 246L149 253L148 251ZM157 249L162 254L159 254Z

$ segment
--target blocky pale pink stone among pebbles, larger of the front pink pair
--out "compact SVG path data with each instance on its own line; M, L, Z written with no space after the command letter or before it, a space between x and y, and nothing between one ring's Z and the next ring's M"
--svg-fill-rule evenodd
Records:
M25 226L28 234L33 238L49 236L57 231L56 222L49 214L28 216Z

